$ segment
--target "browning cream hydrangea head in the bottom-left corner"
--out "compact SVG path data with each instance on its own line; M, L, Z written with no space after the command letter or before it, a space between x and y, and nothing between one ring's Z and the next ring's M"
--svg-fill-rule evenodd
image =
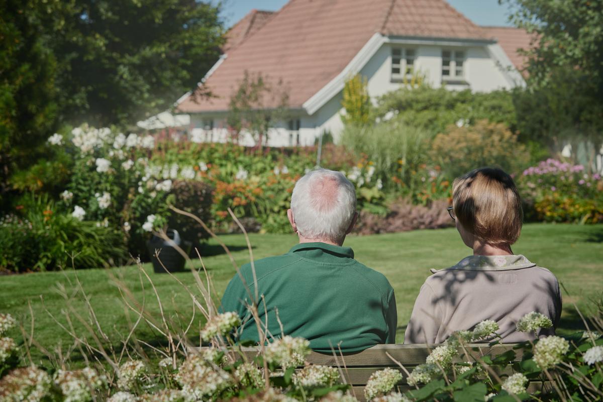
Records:
M36 366L16 368L0 380L0 401L40 402L48 394L51 378Z

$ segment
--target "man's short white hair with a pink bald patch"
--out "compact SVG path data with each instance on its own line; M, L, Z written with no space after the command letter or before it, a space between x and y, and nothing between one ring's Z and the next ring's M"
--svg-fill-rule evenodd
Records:
M354 218L356 190L340 172L316 169L295 183L291 209L301 236L338 241Z

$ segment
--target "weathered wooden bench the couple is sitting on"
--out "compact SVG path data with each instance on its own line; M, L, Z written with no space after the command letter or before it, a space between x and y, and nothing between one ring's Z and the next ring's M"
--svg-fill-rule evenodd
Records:
M411 372L415 366L425 363L426 357L437 346L439 345L432 345L431 347L426 345L376 345L365 351L344 354L344 356L339 354L333 356L333 354L321 354L313 351L306 360L316 365L339 366L343 370L345 377L342 381L352 385L353 394L359 401L365 401L364 386L367 384L368 378L370 378L373 372L386 367L397 369L402 373L403 380L397 385L400 392L415 389L408 385L406 382L408 375L392 358L400 362L408 372ZM508 350L513 350L513 347L514 344L494 345L492 347L487 344L472 344L467 346L467 352L470 356L464 356L464 354L457 356L453 362L462 363L475 361L475 359L483 356L499 356ZM257 348L242 348L242 351L250 360L258 354ZM506 368L499 370L499 374L512 374L510 365L522 360L523 351L518 349L514 350L514 352L516 353L515 359L509 362ZM528 385L528 392L546 392L549 388L550 385L547 383L531 382Z

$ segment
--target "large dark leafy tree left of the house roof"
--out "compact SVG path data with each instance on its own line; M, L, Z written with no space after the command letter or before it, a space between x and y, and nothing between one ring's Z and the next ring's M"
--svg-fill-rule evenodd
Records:
M62 120L133 124L165 110L218 60L219 5L196 0L55 0L47 45Z

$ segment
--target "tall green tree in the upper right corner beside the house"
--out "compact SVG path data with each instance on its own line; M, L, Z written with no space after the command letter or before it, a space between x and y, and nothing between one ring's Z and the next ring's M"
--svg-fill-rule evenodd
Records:
M500 0L533 34L528 91L514 99L522 136L554 151L565 142L603 145L603 0Z

